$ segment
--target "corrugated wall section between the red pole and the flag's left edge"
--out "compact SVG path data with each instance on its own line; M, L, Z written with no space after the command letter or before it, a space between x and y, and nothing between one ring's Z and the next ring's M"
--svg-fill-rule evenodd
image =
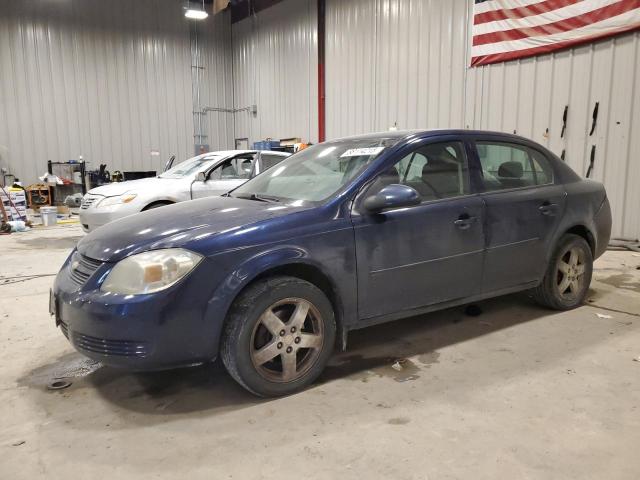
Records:
M327 137L464 125L465 1L327 0Z

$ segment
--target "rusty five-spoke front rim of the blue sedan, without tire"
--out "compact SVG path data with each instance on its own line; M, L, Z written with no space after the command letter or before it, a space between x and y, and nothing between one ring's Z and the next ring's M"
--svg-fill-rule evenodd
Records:
M274 382L302 377L318 359L324 322L318 309L302 298L285 298L268 307L251 335L251 361Z

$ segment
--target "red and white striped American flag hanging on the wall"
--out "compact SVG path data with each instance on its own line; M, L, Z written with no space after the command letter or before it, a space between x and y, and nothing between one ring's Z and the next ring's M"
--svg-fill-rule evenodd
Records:
M475 0L471 65L504 62L640 28L640 0Z

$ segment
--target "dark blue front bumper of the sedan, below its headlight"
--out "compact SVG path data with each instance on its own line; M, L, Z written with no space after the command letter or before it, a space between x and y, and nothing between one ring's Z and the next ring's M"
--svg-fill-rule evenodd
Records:
M71 272L70 259L56 277L50 311L80 353L138 371L215 359L220 325L206 315L212 294L206 259L178 284L148 295L101 292L114 264L93 261L99 265L87 277Z

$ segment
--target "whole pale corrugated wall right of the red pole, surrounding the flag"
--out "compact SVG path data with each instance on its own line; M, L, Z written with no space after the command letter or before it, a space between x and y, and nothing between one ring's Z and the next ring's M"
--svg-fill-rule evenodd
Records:
M515 130L558 155L566 150L582 175L596 145L591 178L607 186L614 235L640 237L640 33L470 69L472 6L327 0L328 138L394 124ZM589 136L595 102L598 123Z

